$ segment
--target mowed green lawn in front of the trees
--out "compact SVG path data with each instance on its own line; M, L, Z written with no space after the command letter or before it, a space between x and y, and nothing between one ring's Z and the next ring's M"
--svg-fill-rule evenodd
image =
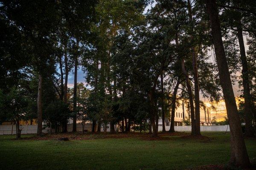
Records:
M15 135L0 135L0 169L163 170L227 164L230 158L230 134L215 132L203 135L211 140L180 136L167 136L170 140L156 141L141 138L11 140ZM250 159L253 160L256 158L256 140L245 141Z

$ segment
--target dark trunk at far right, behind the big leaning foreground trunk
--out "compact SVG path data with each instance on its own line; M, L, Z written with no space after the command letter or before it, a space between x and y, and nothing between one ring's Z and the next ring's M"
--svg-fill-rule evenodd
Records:
M243 80L243 87L244 87L243 94L244 94L245 135L248 137L255 137L253 124L252 124L253 114L250 109L252 103L250 98L249 72L248 72L248 66L247 66L246 53L244 49L244 38L243 38L241 20L239 20L239 25L237 26L237 37L239 40L239 47L240 47L240 59L242 62L242 80Z

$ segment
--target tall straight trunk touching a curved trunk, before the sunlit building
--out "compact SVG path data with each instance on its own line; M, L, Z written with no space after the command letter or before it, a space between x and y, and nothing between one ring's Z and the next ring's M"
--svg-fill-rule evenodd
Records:
M188 14L189 22L192 23L192 12L191 12L191 3L190 0L187 0L188 3ZM191 41L193 41L193 35L190 35ZM195 84L195 131L191 135L201 135L200 133L200 98L199 98L199 85L198 85L198 68L197 68L197 55L195 53L195 46L192 46L192 66L193 66L193 75L194 75L194 84Z

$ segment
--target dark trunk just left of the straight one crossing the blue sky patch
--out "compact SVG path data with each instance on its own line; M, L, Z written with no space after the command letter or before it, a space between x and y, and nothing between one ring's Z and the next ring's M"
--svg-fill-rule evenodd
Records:
M65 84L64 84L64 103L67 104L67 80L68 80L68 62L67 62L67 44L64 45L64 62L65 62ZM62 132L67 132L67 116L62 121Z

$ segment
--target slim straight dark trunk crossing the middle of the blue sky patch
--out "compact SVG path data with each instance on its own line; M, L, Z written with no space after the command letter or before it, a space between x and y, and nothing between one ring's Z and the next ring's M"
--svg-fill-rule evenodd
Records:
M77 52L79 49L79 41L76 40L76 47L77 47ZM77 111L76 111L76 92L77 92L77 65L78 65L78 57L79 54L77 54L75 56L75 72L74 72L74 94L73 94L73 132L76 132L76 115L77 115Z

